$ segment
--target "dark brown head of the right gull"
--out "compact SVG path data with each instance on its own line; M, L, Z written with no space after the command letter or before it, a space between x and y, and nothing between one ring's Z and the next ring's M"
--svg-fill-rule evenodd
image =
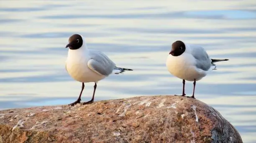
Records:
M182 53L184 53L186 50L186 46L182 41L176 41L172 43L172 50L169 54L172 54L172 56L179 56Z

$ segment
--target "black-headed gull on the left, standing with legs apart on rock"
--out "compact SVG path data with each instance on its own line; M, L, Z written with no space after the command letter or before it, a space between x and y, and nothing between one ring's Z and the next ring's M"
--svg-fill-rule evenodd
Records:
M66 60L66 70L73 79L82 82L82 90L79 97L77 101L69 104L70 106L81 103L84 83L95 83L92 99L82 103L83 105L91 104L94 101L94 94L98 81L104 79L113 72L115 74L120 74L125 71L132 71L132 69L116 67L115 63L102 52L88 49L85 38L82 35L74 34L69 37L69 44L67 44L66 48L67 47L69 47L69 51Z

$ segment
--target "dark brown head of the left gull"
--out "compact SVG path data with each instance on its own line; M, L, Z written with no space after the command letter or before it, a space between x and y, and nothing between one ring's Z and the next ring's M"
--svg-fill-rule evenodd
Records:
M74 34L71 37L69 37L69 44L67 44L66 48L69 47L69 49L79 49L83 45L83 37L79 34Z

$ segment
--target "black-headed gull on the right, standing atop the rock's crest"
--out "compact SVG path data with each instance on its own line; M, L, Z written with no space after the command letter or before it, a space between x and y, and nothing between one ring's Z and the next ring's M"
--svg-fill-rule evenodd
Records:
M228 59L210 59L204 48L185 44L182 41L172 43L172 50L166 59L166 67L168 71L178 78L182 79L183 91L181 96L185 96L185 80L194 81L194 89L192 96L195 99L196 81L206 76L211 66L215 66L215 62L228 61Z

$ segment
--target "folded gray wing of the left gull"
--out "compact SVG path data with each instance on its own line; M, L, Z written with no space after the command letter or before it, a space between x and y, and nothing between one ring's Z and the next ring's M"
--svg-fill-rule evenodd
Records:
M105 76L113 72L115 63L102 52L90 49L90 57L87 65L92 71Z

